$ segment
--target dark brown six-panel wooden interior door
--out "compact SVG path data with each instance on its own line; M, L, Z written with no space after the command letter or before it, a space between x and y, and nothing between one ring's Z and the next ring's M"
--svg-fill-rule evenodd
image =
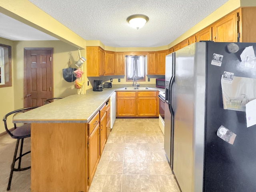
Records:
M24 48L24 107L53 97L53 48Z

